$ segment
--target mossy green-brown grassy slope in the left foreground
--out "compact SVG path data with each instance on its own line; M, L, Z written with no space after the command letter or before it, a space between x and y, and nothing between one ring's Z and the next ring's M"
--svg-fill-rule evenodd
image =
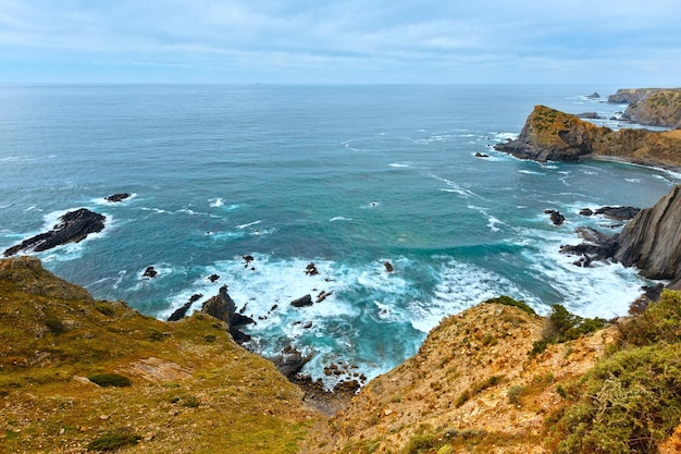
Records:
M322 417L227 328L162 322L35 258L0 261L0 451L297 452Z

